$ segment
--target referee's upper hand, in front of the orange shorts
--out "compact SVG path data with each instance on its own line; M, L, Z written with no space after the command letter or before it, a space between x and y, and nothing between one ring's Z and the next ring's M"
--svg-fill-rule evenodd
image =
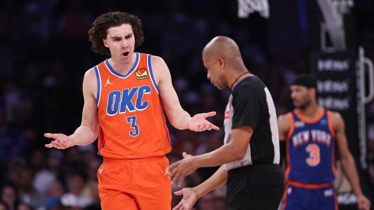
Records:
M184 177L190 175L191 173L195 172L197 167L193 163L193 155L187 155L186 152L182 153L183 159L171 164L168 170L171 170L169 179L171 179L171 183L177 182L179 178L178 186L180 187L183 183Z

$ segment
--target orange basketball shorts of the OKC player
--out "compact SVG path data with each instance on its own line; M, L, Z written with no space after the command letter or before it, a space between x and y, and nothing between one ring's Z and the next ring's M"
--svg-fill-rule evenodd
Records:
M97 173L102 210L170 210L167 167L165 155L135 160L104 158Z

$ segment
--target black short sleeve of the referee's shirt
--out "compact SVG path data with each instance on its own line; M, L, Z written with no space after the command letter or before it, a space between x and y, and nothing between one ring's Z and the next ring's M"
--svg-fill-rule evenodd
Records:
M232 129L240 126L249 126L253 130L256 128L258 118L260 117L263 97L261 92L251 87L243 87L238 90L233 98L233 125Z

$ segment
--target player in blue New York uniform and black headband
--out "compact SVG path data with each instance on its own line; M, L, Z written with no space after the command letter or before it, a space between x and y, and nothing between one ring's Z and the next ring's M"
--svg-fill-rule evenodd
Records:
M361 191L343 118L338 112L318 106L316 86L312 75L298 75L291 85L295 109L278 118L281 154L285 151L287 161L282 210L338 209L332 186L336 177L335 145L358 208L368 210L370 201Z

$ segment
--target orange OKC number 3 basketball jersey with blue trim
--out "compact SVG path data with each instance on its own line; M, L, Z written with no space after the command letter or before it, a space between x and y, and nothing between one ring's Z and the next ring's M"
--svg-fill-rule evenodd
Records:
M104 158L137 159L165 155L171 142L154 80L151 55L136 53L126 75L115 72L108 59L94 67L100 123L98 154Z

